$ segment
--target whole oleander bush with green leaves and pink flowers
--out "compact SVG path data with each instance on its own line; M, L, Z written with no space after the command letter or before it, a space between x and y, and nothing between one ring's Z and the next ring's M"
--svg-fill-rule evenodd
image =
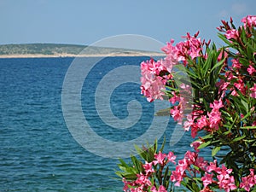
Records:
M175 151L163 154L157 143L137 148L141 159L120 160L124 191L173 191L180 184L190 191L256 191L256 16L241 22L236 28L231 18L222 20L220 49L199 32L187 33L185 41L166 44L165 59L141 64L142 94L148 102L169 99L172 118L191 132L195 150L176 162ZM211 148L211 162L201 148Z

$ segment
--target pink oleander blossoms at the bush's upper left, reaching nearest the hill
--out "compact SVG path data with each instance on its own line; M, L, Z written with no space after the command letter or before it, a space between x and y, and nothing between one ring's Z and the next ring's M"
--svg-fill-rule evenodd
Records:
M147 97L148 102L153 102L156 99L162 100L165 95L163 90L166 90L166 83L172 79L172 67L180 62L187 63L187 58L195 59L201 55L201 50L204 43L201 43L200 38L191 37L188 33L187 41L180 42L173 46L167 43L162 50L166 53L166 58L160 61L143 61L141 63L141 93ZM164 75L163 75L164 74Z

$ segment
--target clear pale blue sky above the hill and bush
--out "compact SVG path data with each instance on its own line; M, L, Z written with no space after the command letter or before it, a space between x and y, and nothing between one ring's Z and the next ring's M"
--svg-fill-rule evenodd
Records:
M162 43L187 32L222 44L220 20L256 14L255 0L0 0L0 44L83 44L121 34Z

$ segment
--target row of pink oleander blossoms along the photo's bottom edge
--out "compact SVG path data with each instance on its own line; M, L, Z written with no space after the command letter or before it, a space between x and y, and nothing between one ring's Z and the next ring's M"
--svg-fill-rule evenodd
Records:
M192 143L192 146L195 148L196 152L187 151L184 155L183 160L178 160L178 164L172 175L170 177L171 182L175 182L175 186L180 186L180 183L183 181L184 177L193 177L201 175L200 173L204 172L201 177L201 182L204 186L201 189L201 192L211 192L211 185L218 185L219 189L224 189L226 192L230 190L237 189L235 178L232 176L232 169L228 169L226 166L218 166L217 160L213 162L208 162L204 160L203 157L200 157L198 154L198 146L201 142ZM155 173L157 170L163 170L169 162L176 164L176 156L169 152L168 154L163 154L159 152L154 154L154 160L152 162L145 162L143 164L143 172L137 174L137 179L135 181L127 181L123 178L124 191L125 192L167 192L166 188L160 184L157 186ZM159 166L159 167L157 167ZM253 188L256 184L256 175L254 174L255 170L250 169L250 174L247 177L241 177L240 188L243 188L247 191ZM152 183L154 181L154 183Z

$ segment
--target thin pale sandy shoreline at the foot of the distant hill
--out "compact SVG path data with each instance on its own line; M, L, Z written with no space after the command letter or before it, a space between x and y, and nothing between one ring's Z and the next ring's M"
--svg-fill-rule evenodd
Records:
M164 53L155 52L128 52L128 53L109 53L109 54L58 54L58 55L44 55L44 54L17 54L17 55L0 55L0 58L58 58L58 57L113 57L113 56L165 56Z

